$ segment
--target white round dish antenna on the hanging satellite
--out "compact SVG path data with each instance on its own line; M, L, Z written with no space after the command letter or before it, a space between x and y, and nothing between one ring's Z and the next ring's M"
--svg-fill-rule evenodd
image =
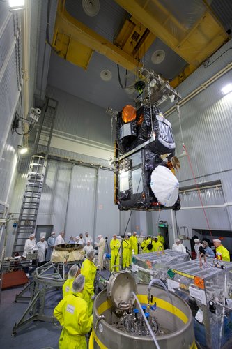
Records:
M173 206L178 199L179 182L176 176L164 166L157 166L150 177L150 188L164 206Z

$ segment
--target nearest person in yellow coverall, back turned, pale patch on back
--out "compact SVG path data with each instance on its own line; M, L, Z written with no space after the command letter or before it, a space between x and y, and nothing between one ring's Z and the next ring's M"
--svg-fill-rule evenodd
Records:
M59 302L54 317L63 327L59 338L59 349L86 349L85 334L90 332L93 315L88 315L88 304L83 299L85 278L81 274L72 283L72 293Z

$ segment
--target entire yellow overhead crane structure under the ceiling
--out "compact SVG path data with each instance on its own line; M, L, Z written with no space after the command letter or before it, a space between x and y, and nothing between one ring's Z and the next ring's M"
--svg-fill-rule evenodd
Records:
M170 83L176 87L228 39L209 8L187 29L158 0L115 1L132 17L125 20L111 43L72 17L65 10L65 0L59 0L52 42L59 56L86 69L95 51L134 70L141 66L141 57L158 37L186 61L185 70Z

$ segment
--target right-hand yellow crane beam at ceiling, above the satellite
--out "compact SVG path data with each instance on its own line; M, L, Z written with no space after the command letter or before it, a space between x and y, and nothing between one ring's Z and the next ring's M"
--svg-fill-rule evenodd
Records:
M201 18L187 29L158 0L114 1L196 68L228 39L222 24L207 8Z

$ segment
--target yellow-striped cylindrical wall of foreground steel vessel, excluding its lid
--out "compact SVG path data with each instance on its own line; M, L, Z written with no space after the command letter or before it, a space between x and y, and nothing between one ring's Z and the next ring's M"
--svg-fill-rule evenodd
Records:
M137 297L141 304L148 304L148 285L137 285ZM192 311L187 303L173 292L166 292L159 286L152 286L153 304L156 311L150 310L160 324L156 334L161 349L194 349L194 329ZM103 290L95 298L93 306L93 332L89 342L90 349L147 349L155 348L151 336L130 335L116 328L116 307ZM104 317L104 318L102 318Z

